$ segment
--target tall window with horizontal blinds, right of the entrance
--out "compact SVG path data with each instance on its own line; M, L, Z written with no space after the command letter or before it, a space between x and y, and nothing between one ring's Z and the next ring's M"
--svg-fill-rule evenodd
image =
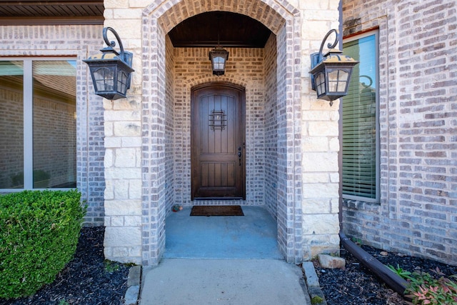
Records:
M344 41L345 55L360 61L343 97L343 198L378 201L377 32Z

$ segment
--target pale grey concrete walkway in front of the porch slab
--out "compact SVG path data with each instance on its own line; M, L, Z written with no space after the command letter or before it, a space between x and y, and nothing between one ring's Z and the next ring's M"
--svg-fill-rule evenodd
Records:
M309 305L301 268L279 259L164 259L145 268L141 305Z

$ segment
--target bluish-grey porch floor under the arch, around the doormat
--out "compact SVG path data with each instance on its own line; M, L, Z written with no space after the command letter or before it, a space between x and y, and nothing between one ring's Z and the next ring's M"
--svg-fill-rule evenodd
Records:
M166 218L166 259L283 259L276 221L261 206L244 216L190 216L191 207Z

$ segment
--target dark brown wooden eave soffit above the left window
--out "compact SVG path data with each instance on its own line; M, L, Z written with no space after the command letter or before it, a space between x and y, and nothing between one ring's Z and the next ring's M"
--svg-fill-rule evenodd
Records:
M103 24L103 0L0 0L0 25Z

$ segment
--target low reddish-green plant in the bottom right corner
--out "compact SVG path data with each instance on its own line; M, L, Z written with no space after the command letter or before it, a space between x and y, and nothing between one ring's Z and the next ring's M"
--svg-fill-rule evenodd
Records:
M440 269L435 271L438 279L427 272L413 272L405 294L412 299L408 304L457 304L456 275L447 278Z

